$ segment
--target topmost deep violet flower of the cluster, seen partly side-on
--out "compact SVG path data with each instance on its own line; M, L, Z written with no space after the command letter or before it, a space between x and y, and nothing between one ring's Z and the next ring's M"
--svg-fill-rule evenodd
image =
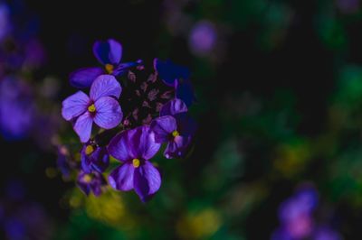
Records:
M73 71L70 76L73 87L89 88L93 80L101 74L111 74L117 77L126 73L129 68L142 64L142 60L121 63L122 46L112 39L104 42L94 42L93 53L103 67L83 68Z

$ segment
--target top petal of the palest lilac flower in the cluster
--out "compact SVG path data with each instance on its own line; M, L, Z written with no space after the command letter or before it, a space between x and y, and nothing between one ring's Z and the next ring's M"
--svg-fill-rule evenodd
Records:
M106 96L119 98L121 91L122 88L116 78L112 75L100 75L90 87L90 98L93 101Z

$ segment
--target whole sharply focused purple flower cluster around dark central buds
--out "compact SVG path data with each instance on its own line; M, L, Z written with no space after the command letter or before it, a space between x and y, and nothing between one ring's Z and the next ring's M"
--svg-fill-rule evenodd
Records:
M161 186L160 171L150 160L163 143L167 159L185 157L195 134L187 114L195 101L190 72L158 59L150 71L142 60L122 63L122 46L111 39L95 42L93 53L102 67L70 76L71 86L90 88L89 95L79 90L62 102L62 117L82 144L81 164L73 164L79 168L78 185L99 195L112 156L121 164L108 174L110 187L134 189L147 201ZM60 166L71 166L66 159L60 154Z

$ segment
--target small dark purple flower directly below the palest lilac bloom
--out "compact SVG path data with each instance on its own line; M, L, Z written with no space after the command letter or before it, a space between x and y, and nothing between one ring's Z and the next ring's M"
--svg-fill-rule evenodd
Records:
M81 149L81 168L84 172L105 171L110 165L110 155L106 147L97 144L84 144Z

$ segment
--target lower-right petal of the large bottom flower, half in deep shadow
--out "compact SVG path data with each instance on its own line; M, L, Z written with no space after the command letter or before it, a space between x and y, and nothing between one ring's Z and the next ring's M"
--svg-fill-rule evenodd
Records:
M135 170L134 188L142 201L147 201L161 187L161 174L151 162L146 161Z

